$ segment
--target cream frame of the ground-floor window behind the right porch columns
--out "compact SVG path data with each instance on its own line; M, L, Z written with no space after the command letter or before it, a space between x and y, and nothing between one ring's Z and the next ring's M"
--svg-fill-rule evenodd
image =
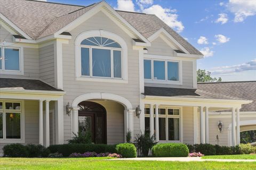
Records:
M145 107L145 109L146 108L148 108L149 109L149 107ZM177 107L177 106L162 106L162 107L158 107L158 109L161 109L161 108L164 108L165 109L165 115L161 115L159 112L158 112L158 117L159 118L161 118L161 117L163 117L163 118L165 118L165 125L166 125L166 127L165 127L165 139L166 140L159 140L159 142L161 142L161 143L167 143L167 142L174 142L174 143L182 143L183 142L183 120L182 120L182 107ZM180 114L179 115L168 115L168 113L167 113L167 111L168 111L168 109L179 109L179 111L180 111ZM154 112L154 110L155 110L155 107L153 108L153 112ZM155 113L154 113L154 124L155 124ZM145 117L150 117L150 114L146 114L146 112L145 112ZM168 136L169 136L169 134L168 134L168 118L179 118L179 132L180 132L180 140L168 140ZM145 120L144 120L145 121Z

